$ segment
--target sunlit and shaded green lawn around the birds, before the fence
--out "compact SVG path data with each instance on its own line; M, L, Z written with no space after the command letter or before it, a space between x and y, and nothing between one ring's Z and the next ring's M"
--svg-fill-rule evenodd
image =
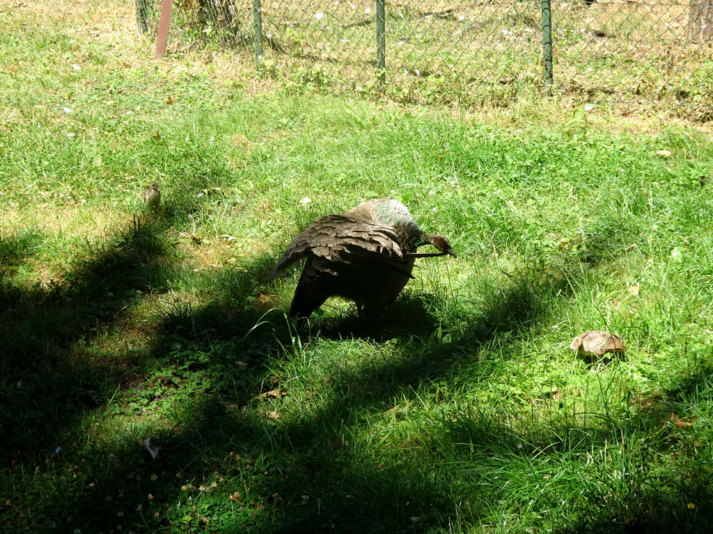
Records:
M57 9L0 4L4 532L709 529L709 130L271 85ZM297 330L267 273L373 197L458 259Z

